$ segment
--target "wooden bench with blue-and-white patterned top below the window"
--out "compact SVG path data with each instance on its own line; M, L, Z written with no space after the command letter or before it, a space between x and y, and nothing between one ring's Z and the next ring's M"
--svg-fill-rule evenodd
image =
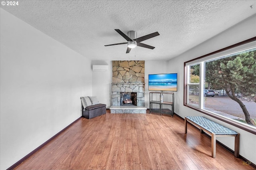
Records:
M216 136L235 136L234 155L239 157L239 136L238 132L224 127L202 116L185 117L185 133L187 133L187 123L191 123L200 128L200 132L208 132L212 136L212 158L216 157Z

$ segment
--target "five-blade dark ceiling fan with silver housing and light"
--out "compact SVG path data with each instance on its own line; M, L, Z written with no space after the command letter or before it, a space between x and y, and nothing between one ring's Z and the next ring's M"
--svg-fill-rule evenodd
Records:
M142 36L140 38L137 38L137 32L136 31L129 31L127 33L128 36L126 36L122 31L115 29L116 32L118 32L123 38L127 40L127 42L124 43L114 43L110 45L104 45L104 46L111 46L111 45L120 45L120 44L128 44L126 53L129 53L132 48L135 48L137 46L144 47L144 48L149 48L149 49L154 49L155 47L152 47L150 45L141 43L144 40L148 40L150 38L153 38L155 36L159 36L160 34L158 32L154 32L152 34L148 34L146 36Z

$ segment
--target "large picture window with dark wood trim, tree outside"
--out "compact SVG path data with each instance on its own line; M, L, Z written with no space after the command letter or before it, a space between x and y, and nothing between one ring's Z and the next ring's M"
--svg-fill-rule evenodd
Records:
M256 134L256 37L184 67L185 106Z

